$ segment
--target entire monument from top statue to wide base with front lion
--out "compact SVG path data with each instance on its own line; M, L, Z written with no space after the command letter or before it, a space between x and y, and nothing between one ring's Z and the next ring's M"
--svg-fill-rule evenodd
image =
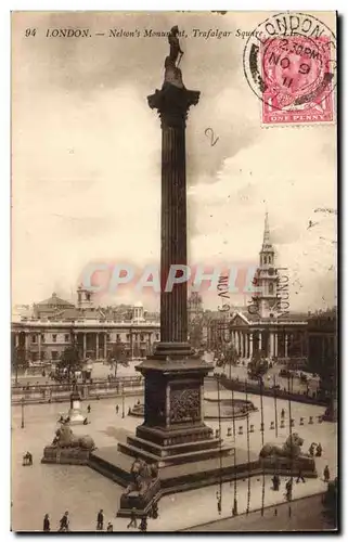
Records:
M185 269L188 260L185 122L190 106L199 100L199 92L188 90L182 82L178 34L178 27L169 33L163 87L147 98L162 122L163 284L160 343L137 366L145 379L144 422L127 442L118 443L117 451L99 449L89 461L95 470L127 486L118 516L129 516L133 508L141 516L153 500L167 492L215 483L222 477L231 479L236 472L234 449L222 446L221 438L214 438L204 423L204 377L211 366L188 343L186 281L175 284L170 292L165 288L169 270L173 266ZM247 476L246 467L239 468L240 476Z

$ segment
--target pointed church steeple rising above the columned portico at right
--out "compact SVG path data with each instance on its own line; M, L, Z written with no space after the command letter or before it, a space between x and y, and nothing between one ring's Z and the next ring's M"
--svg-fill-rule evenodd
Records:
M278 312L278 272L274 262L275 251L270 238L268 212L265 217L263 242L259 255L259 268L254 279L254 285L257 286L255 300L258 304L261 319L275 318Z

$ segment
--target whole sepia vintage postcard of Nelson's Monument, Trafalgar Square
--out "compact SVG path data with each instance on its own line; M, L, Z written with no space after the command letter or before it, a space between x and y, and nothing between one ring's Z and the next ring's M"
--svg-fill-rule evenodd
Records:
M11 529L338 530L337 14L11 43Z

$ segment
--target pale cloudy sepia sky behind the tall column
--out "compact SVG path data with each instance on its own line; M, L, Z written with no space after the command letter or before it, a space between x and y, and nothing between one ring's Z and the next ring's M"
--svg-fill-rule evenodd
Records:
M265 13L16 13L12 18L12 302L72 298L93 261L158 261L160 124L146 96L163 82L166 38L108 38L111 28L184 29L186 88L201 91L186 127L189 262L257 264L269 212L293 310L336 302L336 127L262 127L243 69ZM322 14L334 29L334 16ZM91 38L47 38L89 28ZM25 37L27 28L35 36ZM228 30L194 38L193 29ZM105 33L96 37L95 33ZM217 143L210 145L205 130ZM314 225L309 227L309 221ZM127 291L102 304L158 298ZM208 308L217 296L204 299ZM235 302L242 302L235 296Z

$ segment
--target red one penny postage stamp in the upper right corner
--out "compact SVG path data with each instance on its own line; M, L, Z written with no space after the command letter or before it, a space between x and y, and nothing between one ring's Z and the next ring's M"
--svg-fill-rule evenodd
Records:
M262 124L312 124L334 119L331 40L286 36L260 48Z

